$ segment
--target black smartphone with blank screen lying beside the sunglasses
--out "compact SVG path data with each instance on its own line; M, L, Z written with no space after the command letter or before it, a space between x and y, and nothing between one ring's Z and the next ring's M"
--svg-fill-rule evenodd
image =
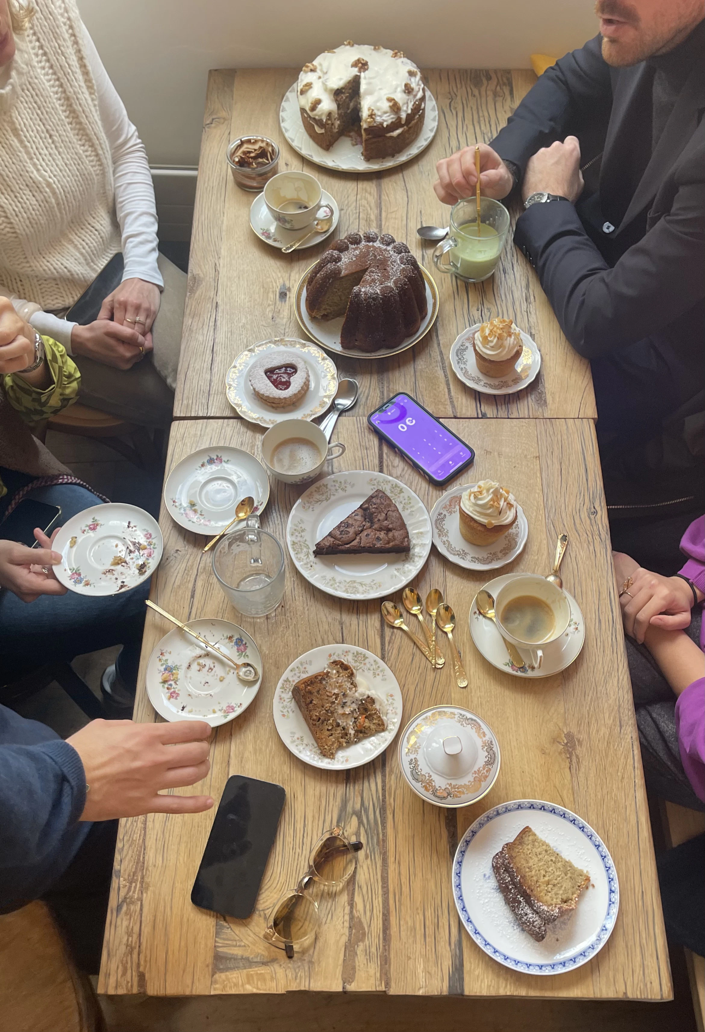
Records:
M281 784L228 778L191 902L229 917L249 917L271 849L286 793Z

